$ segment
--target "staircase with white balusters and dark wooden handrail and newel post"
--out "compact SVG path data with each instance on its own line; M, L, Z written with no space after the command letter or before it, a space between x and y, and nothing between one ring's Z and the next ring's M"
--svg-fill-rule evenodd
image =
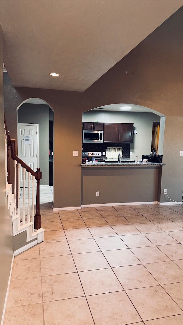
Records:
M11 155L9 153L11 149ZM12 184L10 184L9 158L14 162L14 193L12 193ZM6 196L8 209L13 224L13 236L26 231L26 242L31 242L34 246L44 241L44 229L41 228L41 215L39 211L39 183L42 177L40 168L34 172L17 155L15 149L15 140L10 140L9 132L5 120L5 166L6 166ZM23 188L20 188L20 177L23 177ZM25 178L28 177L28 193L25 194ZM34 202L34 191L36 181L36 204ZM31 187L30 187L31 183ZM23 191L23 200L20 202L20 191ZM27 191L27 190L26 190ZM22 203L22 204L21 204ZM35 211L35 215L34 215ZM21 248L21 252L26 250L29 245ZM17 253L20 253L17 252ZM16 253L15 253L16 255Z

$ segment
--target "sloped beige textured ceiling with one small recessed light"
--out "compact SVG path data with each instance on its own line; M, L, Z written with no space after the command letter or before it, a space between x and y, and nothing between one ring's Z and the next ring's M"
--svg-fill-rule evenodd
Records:
M7 72L14 86L84 91L182 4L1 0Z

